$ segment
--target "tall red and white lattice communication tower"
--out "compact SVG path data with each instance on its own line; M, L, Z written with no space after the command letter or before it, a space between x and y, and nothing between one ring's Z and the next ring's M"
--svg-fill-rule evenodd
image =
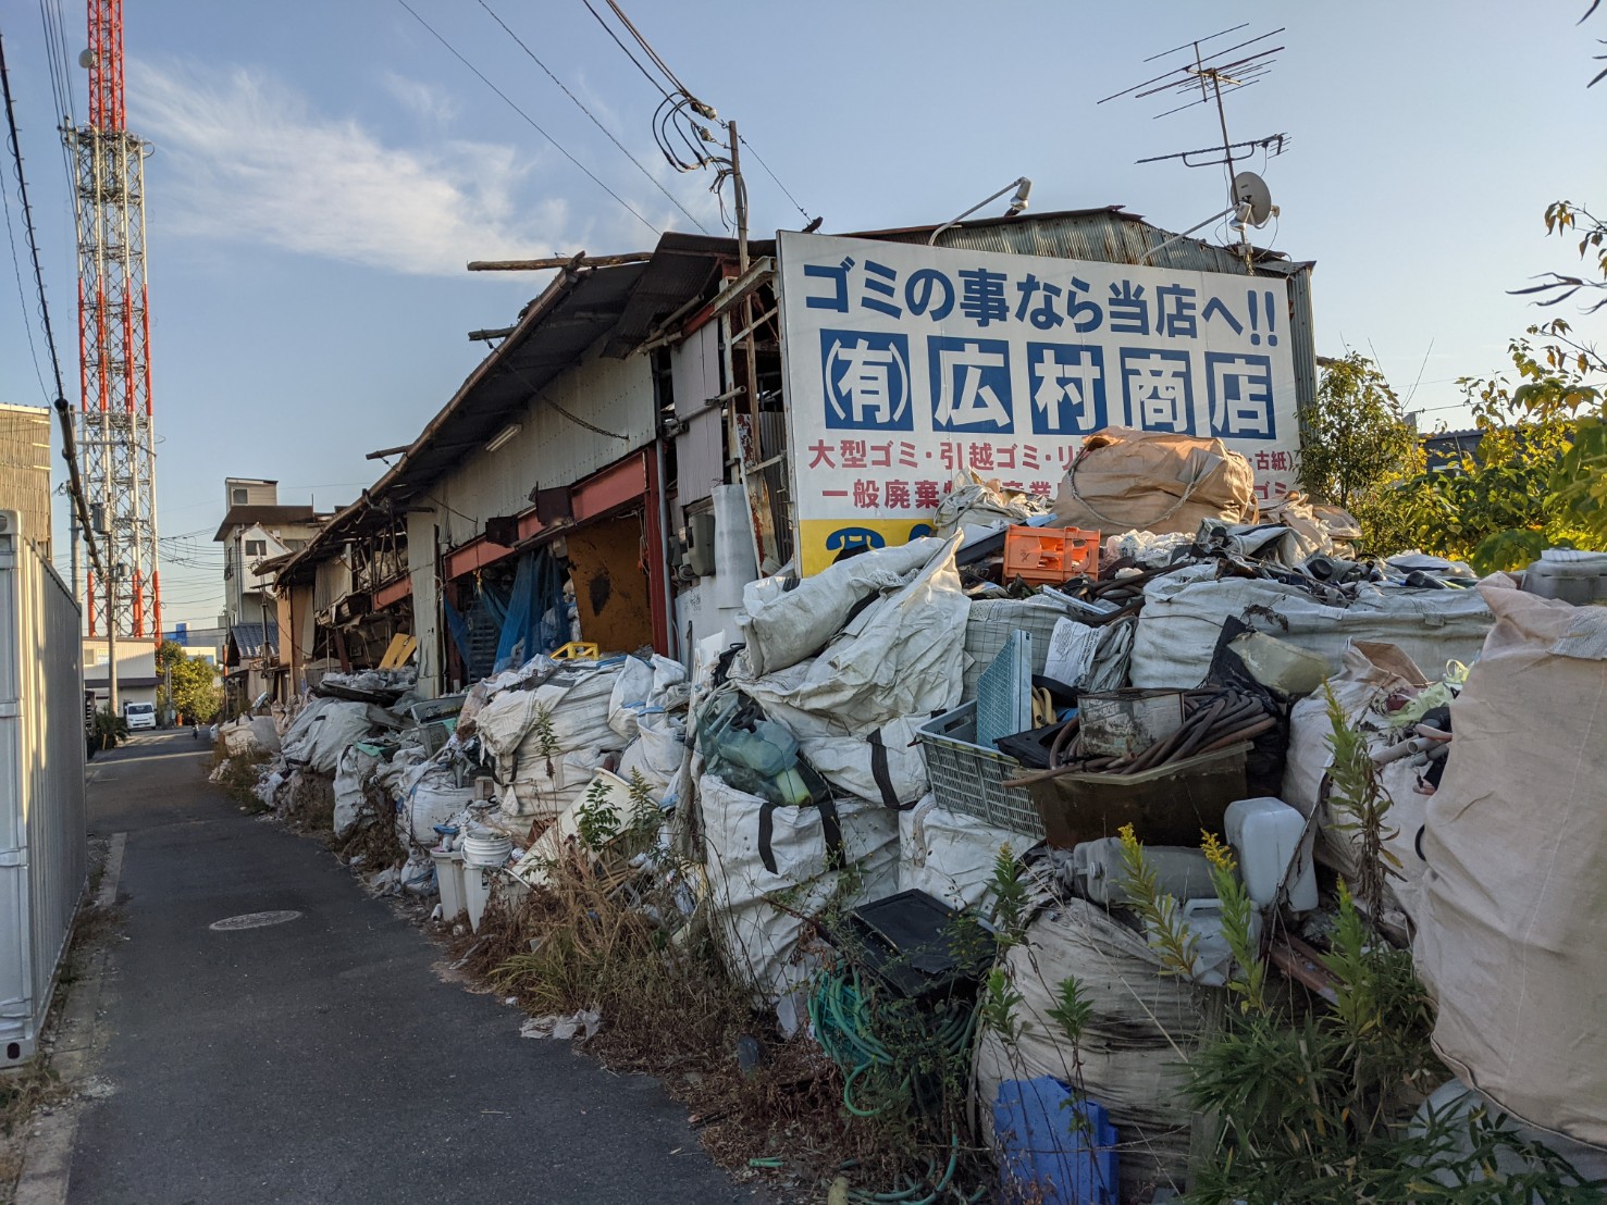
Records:
M88 0L88 120L66 129L77 167L77 440L111 582L85 575L88 635L162 636L156 564L151 312L145 286L145 154L122 103L122 0ZM109 612L109 614L108 614Z

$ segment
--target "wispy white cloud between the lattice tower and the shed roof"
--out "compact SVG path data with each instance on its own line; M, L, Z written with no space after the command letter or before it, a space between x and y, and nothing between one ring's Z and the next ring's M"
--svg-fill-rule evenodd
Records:
M444 98L410 85L440 116ZM133 127L164 156L164 219L186 235L256 239L411 275L460 275L471 259L545 255L601 241L649 244L627 214L577 220L567 201L530 199L535 165L511 146L439 140L387 146L352 119L318 114L294 88L247 67L130 63ZM403 88L407 90L407 88Z

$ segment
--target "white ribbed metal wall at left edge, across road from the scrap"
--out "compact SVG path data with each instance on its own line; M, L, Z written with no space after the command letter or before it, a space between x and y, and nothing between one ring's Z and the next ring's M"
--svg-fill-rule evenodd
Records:
M0 511L0 1067L32 1056L88 872L79 606Z

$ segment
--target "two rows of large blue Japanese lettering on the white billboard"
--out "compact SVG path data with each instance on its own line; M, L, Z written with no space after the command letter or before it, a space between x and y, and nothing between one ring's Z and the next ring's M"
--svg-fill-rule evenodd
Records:
M1049 278L1038 267L922 265L902 273L874 254L805 263L804 308L848 318L820 331L824 426L1088 435L1120 423L1279 439L1273 358L1250 350L1278 345L1271 289L1199 275L1225 286L1202 296L1191 283L1122 276L1101 289L1078 276L1078 267L1067 263ZM874 320L855 328L855 315ZM885 320L900 329L887 331ZM921 334L921 325L940 329ZM1035 337L1024 341L1017 331ZM1225 345L1244 350L1218 350ZM924 390L916 382L922 362Z

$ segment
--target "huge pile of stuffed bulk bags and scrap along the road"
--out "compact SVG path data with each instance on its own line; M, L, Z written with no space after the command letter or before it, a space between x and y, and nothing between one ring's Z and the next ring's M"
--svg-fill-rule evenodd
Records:
M702 924L852 1113L932 1110L1046 1200L1189 1191L1229 1139L1188 1060L1250 964L1331 1009L1360 908L1433 993L1441 1091L1599 1166L1607 611L1358 559L1348 516L1258 511L1242 458L1180 435L1088 440L1053 508L964 480L932 530L749 583L689 665L543 656L427 704L326 678L264 799L328 776L341 835L395 835L373 885L476 929L579 860L665 942ZM884 1014L964 1064L963 1120Z

